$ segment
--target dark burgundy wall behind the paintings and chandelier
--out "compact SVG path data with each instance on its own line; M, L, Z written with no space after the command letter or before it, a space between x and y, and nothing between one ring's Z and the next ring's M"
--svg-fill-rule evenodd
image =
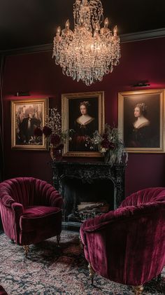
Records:
M15 100L15 92L29 90L30 97L20 97L24 100L50 97L50 104L60 108L62 93L103 90L106 123L113 124L117 123L118 92L134 90L132 84L146 79L150 82L150 88L165 88L164 38L124 43L121 53L120 65L115 67L113 73L90 87L64 76L62 69L52 60L51 52L6 58L3 87L6 178L27 175L51 181L48 151L10 149L10 100ZM165 186L165 154L129 154L126 195L149 186Z

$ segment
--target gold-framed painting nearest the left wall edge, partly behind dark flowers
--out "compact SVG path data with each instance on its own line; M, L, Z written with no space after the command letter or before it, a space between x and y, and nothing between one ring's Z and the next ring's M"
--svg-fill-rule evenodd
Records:
M45 125L48 99L11 101L11 149L48 150L44 136L34 137L34 129Z

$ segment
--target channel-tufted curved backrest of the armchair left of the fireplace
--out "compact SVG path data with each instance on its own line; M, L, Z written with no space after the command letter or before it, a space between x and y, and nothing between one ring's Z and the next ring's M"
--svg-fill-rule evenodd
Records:
M51 184L34 177L17 177L8 179L0 184L0 195L5 196L7 202L13 199L23 207L31 205L48 205L51 191L55 188ZM58 192L57 192L58 193Z

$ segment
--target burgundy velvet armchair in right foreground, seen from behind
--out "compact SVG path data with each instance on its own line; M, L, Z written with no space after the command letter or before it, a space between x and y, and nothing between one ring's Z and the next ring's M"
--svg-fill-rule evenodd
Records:
M134 286L157 277L165 265L165 188L147 188L119 208L88 219L80 228L89 275Z

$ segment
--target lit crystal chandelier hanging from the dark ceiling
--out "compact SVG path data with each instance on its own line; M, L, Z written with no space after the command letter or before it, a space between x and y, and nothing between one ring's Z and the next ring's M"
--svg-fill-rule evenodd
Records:
M76 0L73 4L74 29L69 20L65 29L57 27L52 57L62 67L63 74L86 85L102 81L105 74L119 64L120 38L117 26L108 29L108 18L103 22L100 0Z

